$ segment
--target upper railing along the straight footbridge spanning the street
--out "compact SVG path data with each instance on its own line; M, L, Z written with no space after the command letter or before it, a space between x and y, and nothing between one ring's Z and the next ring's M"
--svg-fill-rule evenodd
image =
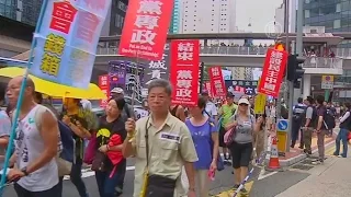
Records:
M264 56L269 47L239 47L239 46L202 46L202 55L228 55L228 56ZM332 49L336 57L351 58L351 48ZM98 55L116 55L117 47L98 47Z

